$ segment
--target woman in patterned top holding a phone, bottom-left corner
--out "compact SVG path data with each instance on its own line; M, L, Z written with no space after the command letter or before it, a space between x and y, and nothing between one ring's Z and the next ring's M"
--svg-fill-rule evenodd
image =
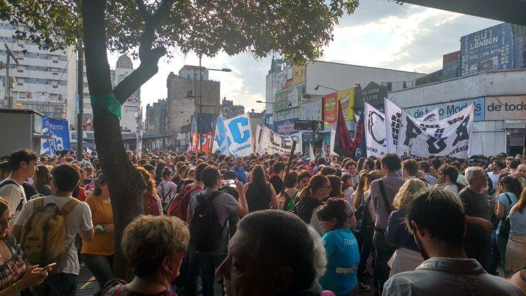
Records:
M0 296L18 295L42 283L52 266L39 268L27 262L10 230L14 215L8 201L0 197Z

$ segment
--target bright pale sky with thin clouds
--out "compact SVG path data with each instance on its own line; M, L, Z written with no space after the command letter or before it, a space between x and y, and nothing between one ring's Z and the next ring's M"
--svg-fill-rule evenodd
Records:
M354 14L343 16L334 29L334 41L323 49L320 60L361 66L375 66L418 73L442 68L442 56L460 50L460 37L499 21L467 16L387 0L361 0ZM114 68L118 54L110 54ZM134 60L136 68L140 62ZM159 72L141 87L141 104L166 98L166 77L177 74L185 64L199 64L195 54L176 53L159 62ZM221 82L221 98L245 106L245 112L265 108L265 76L271 58L256 60L246 53L214 58L203 57L207 68L229 68L230 73L210 71L209 78Z

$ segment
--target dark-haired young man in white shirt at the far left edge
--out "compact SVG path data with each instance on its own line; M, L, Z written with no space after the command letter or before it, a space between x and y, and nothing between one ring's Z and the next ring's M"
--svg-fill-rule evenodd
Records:
M29 149L14 151L9 156L10 175L0 182L0 197L8 201L12 213L17 214L27 202L23 184L36 172L38 157Z

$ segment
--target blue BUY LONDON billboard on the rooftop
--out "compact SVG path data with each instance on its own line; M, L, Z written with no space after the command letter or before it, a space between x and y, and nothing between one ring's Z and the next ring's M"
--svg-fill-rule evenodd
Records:
M502 23L460 38L460 75L513 69L514 45L510 23Z

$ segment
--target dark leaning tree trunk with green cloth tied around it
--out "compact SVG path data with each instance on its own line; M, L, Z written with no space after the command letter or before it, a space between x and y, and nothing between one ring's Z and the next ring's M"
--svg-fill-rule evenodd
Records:
M86 76L90 96L113 93L106 51L104 14L105 0L82 1ZM125 227L143 212L142 190L145 184L127 157L118 118L96 106L92 108L97 154L112 197L115 223L114 275L129 281L133 273L123 258L121 237Z

